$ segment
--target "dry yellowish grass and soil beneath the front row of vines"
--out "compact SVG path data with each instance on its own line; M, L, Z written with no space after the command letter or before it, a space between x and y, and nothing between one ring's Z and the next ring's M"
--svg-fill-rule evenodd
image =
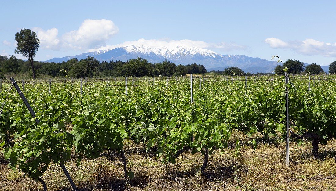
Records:
M237 139L248 142L248 137L235 132L229 141L232 151ZM258 138L257 149L246 145L240 155L234 153L213 153L209 156L206 175L199 171L203 162L200 154L184 153L176 164L163 164L153 154L145 153L144 145L125 142L128 170L134 172L134 179L125 179L123 164L119 155L113 160L108 157L84 159L80 166L75 161L66 166L74 182L81 190L336 190L336 141L320 145L320 158L311 155L311 144L298 147L291 142L290 166L286 166L285 144L279 140ZM153 153L154 151L152 151ZM40 183L21 177L17 171L8 170L6 161L0 155L0 190L42 190ZM71 186L59 165L52 164L42 177L49 190L71 190Z

